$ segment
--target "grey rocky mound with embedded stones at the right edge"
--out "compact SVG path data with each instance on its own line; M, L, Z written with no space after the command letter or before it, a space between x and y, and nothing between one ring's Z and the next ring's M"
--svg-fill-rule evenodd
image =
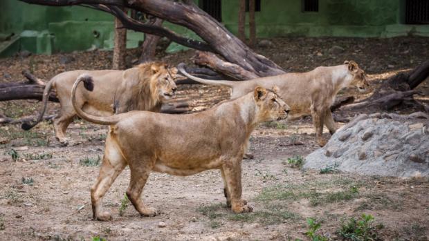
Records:
M429 176L429 120L412 115L359 115L323 148L309 154L304 168L396 177Z

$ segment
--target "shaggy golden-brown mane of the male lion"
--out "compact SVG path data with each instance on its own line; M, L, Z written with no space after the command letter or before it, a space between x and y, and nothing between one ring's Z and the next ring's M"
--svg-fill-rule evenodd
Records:
M152 66L158 67L158 72L152 73ZM131 92L128 110L154 110L161 108L161 102L156 88L158 75L167 71L167 64L158 61L147 62L136 66L138 68L138 83Z

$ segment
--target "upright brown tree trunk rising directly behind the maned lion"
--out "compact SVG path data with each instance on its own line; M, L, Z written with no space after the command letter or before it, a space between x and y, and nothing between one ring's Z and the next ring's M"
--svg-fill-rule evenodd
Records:
M125 53L127 51L127 29L124 28L120 19L115 18L115 46L113 48L114 70L125 70Z

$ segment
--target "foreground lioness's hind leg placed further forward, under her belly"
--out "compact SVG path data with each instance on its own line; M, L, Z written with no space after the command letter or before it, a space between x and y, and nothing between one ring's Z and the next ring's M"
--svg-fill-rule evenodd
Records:
M130 164L131 179L127 189L127 197L140 215L152 217L158 215L158 211L154 208L145 206L143 200L141 200L143 187L145 187L149 173L152 171L152 168L147 163L149 162L144 160L135 166Z

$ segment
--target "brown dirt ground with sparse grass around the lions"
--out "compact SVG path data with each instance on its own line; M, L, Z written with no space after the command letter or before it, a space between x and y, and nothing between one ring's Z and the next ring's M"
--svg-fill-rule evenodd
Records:
M369 73L372 89L429 56L428 39L417 37L270 41L272 46L258 47L257 52L285 70L302 72L352 59ZM334 45L343 52L331 54ZM0 59L0 82L23 79L24 69L50 79L65 70L109 68L111 55L96 50ZM157 57L171 64L190 64L192 55L187 51ZM73 60L60 64L64 57ZM138 50L130 50L128 61L136 57ZM428 103L428 81L419 89L423 95L418 99ZM196 109L201 110L226 98L226 91L180 86L179 97L197 99L197 106L205 105ZM349 94L358 99L370 95L359 95L352 88L341 93ZM35 101L3 102L0 113L21 117L37 113L40 107ZM56 109L57 104L50 104L48 113ZM254 158L242 164L243 197L254 212L241 215L226 208L219 171L206 171L189 177L152 173L142 197L161 215L141 218L124 200L126 168L104 197L104 208L113 220L93 221L89 190L98 175L107 128L76 119L67 133L72 145L61 147L49 122L31 131L21 131L19 125L0 126L0 240L309 240L307 218L320 222L318 234L340 240L338 229L364 213L374 217L378 240L429 240L427 178L364 176L338 173L331 167L329 173L320 174L289 163L318 148L308 117L265 123L254 131L250 138ZM326 130L325 135L329 137Z

